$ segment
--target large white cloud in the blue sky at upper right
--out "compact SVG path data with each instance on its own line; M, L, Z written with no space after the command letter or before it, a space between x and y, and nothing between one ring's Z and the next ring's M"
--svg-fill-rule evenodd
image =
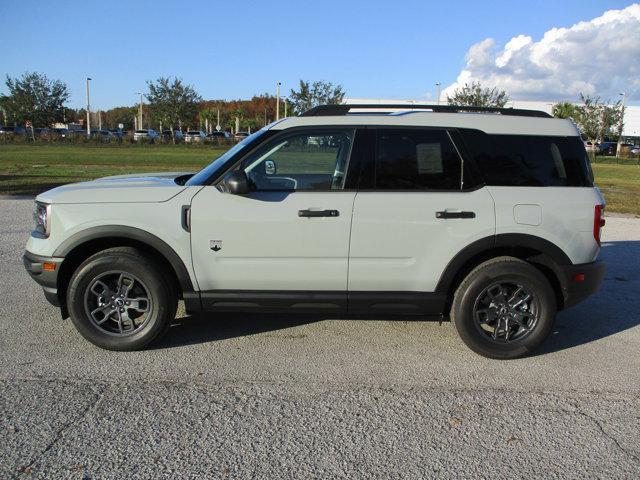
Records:
M503 47L487 38L469 48L466 66L443 98L467 82L507 91L514 99L577 101L580 92L640 100L640 4L609 10L539 41L518 35Z

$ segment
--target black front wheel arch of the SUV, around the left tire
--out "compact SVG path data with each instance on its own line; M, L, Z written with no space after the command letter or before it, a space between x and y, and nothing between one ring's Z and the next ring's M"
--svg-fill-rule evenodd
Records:
M56 248L53 256L64 258L57 278L58 300L63 317L68 316L66 292L69 280L77 267L91 255L111 247L130 246L144 251L165 269L173 279L180 295L192 295L193 283L189 271L176 251L164 240L135 227L101 225L82 230Z

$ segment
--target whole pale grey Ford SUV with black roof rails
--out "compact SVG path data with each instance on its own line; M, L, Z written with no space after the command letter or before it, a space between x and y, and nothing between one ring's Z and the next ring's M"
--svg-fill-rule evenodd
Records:
M183 299L188 312L449 315L474 351L525 355L604 274L604 201L579 132L535 111L406 109L316 107L195 175L45 192L25 266L107 349L157 339Z

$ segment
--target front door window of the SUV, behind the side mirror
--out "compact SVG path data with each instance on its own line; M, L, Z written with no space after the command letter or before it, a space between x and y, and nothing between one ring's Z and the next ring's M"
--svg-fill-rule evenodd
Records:
M269 142L242 162L253 190L341 190L353 130L305 131Z

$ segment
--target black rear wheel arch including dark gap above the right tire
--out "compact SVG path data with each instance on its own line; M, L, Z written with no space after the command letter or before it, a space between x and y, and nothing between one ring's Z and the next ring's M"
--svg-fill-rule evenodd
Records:
M538 268L551 284L558 309L566 299L566 279L561 266L572 265L567 254L549 240L529 234L507 233L481 238L463 248L445 267L436 286L436 293L447 296L445 312L453 301L453 294L462 280L482 262L499 256L525 260Z

